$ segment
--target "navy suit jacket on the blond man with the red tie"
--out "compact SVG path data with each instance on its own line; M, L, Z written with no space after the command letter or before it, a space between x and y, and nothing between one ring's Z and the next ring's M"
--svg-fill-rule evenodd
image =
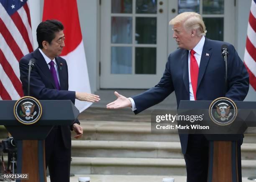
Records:
M197 81L197 100L212 101L218 97L228 97L233 101L243 101L249 89L249 76L235 48L228 45L228 86L225 90L225 62L221 55L222 41L205 38ZM171 53L160 82L148 91L133 97L137 110L135 114L158 104L175 91L179 101L189 100L188 53L177 49ZM209 56L206 56L206 53ZM187 150L187 134L180 134L182 153Z

